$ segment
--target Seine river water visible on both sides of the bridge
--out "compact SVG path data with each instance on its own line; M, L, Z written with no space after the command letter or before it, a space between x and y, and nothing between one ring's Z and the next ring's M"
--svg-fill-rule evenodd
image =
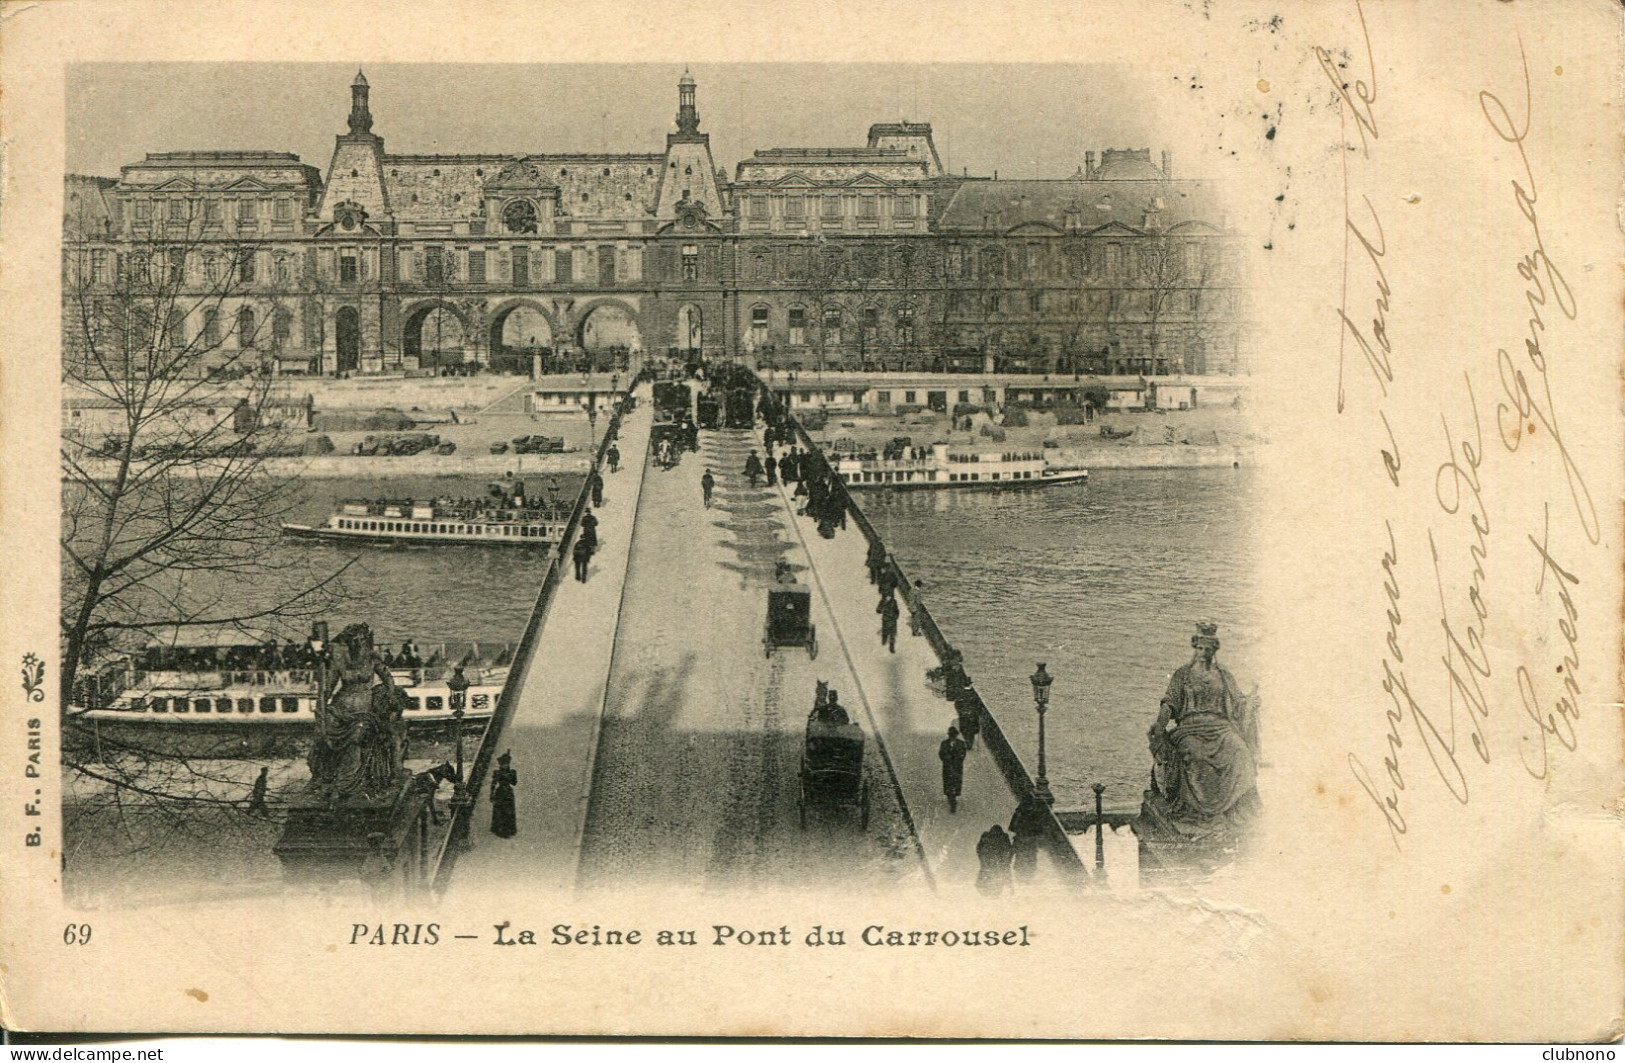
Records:
M551 479L574 497L577 476ZM1027 676L1037 662L1048 663L1048 767L1058 805L1092 800L1097 780L1108 787L1108 805L1138 805L1149 774L1146 730L1168 675L1190 660L1194 621L1219 623L1220 660L1242 689L1256 679L1251 481L1246 470L1102 471L1077 488L864 492L860 502L910 579L926 582L933 616L964 650L977 689L1030 766L1037 718ZM533 494L548 483L526 479ZM474 496L484 486L312 479L288 518L322 523L341 497ZM349 603L330 619L335 629L364 619L392 645L406 637L422 645L517 642L546 569L540 551L302 541L278 549L301 551L315 571L353 561ZM255 588L237 593L252 603Z

